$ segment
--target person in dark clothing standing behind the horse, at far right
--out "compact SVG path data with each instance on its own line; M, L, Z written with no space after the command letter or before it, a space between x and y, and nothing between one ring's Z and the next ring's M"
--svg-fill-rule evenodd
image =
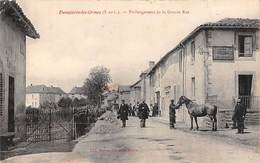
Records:
M241 104L241 99L237 99L237 104L235 106L235 111L233 115L234 121L237 123L237 133L243 134L244 133L244 120L246 116L246 107Z

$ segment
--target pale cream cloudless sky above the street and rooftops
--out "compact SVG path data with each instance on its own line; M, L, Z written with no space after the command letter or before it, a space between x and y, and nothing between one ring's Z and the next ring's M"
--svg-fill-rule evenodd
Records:
M157 62L200 24L260 18L260 0L17 2L41 36L27 38L27 85L66 92L82 86L90 69L100 65L110 69L114 85L133 84L149 61Z

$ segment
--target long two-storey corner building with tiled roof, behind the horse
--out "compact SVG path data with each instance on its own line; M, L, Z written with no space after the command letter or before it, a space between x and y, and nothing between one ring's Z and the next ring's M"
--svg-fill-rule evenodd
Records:
M151 102L159 104L161 116L168 119L170 100L177 102L181 95L199 104L216 104L222 126L231 120L237 97L248 112L259 110L259 27L257 19L205 23L162 57L148 73ZM259 120L259 113L254 116ZM177 111L177 120L189 121L186 109Z

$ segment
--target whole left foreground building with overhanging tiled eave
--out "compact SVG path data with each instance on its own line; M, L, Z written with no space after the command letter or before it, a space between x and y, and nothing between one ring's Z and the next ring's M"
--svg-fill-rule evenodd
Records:
M0 134L24 134L26 36L39 38L15 1L0 1Z

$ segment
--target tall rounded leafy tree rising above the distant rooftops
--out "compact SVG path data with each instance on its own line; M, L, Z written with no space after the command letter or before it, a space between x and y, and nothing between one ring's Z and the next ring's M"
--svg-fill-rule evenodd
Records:
M109 69L103 66L92 68L83 85L83 90L85 95L87 95L88 103L94 106L100 105L102 93L105 90L108 90L108 84L111 81Z

